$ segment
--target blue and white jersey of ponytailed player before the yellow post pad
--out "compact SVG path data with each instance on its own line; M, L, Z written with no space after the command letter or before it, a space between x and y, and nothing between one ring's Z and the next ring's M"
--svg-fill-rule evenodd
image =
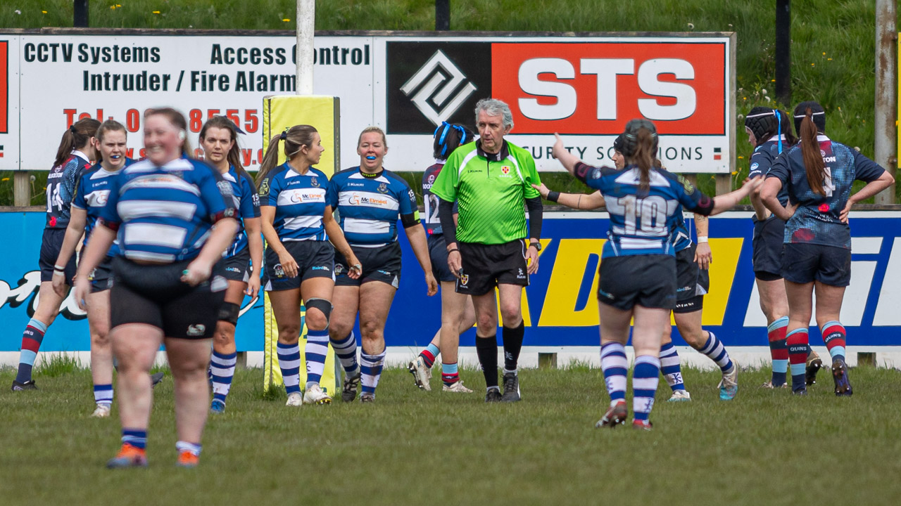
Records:
M316 167L299 174L287 163L274 172L259 183L259 204L276 208L272 226L278 239L328 240L323 216L331 191L329 178Z

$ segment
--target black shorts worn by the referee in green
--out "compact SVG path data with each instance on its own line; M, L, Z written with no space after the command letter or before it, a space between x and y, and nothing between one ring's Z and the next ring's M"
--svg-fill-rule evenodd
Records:
M529 285L525 240L504 244L458 242L457 247L463 260L463 278L456 285L458 294L484 295L497 285Z

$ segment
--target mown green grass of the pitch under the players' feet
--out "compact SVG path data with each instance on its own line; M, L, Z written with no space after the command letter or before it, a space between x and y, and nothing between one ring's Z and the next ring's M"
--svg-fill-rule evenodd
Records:
M390 369L378 402L288 409L239 371L228 411L211 418L202 463L174 467L172 380L155 391L146 470L108 471L115 418L88 418L90 375L39 371L39 392L0 390L0 497L19 504L892 504L901 493L901 373L858 367L855 395L824 380L806 398L757 388L734 402L718 375L686 370L693 402L662 402L650 432L594 429L606 394L598 369L524 370L523 402L417 391ZM14 373L0 370L0 384ZM438 385L437 379L432 384ZM666 389L665 386L663 386ZM667 389L668 390L668 389ZM178 502L177 502L178 501Z

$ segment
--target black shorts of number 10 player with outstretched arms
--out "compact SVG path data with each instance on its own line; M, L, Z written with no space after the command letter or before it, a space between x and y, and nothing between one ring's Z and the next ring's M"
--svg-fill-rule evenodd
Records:
M671 310L676 306L676 258L631 255L604 258L597 300L629 311L634 306Z

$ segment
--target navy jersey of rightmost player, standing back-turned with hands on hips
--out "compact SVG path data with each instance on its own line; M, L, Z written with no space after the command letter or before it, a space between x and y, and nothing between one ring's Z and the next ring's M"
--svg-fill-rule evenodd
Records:
M787 149L769 167L767 177L777 177L787 188L789 200L797 203L795 214L786 221L784 243L808 243L851 249L851 227L839 214L851 196L851 183L869 183L885 169L873 160L823 134L816 136L826 166L825 195L815 194L807 184L801 143Z

